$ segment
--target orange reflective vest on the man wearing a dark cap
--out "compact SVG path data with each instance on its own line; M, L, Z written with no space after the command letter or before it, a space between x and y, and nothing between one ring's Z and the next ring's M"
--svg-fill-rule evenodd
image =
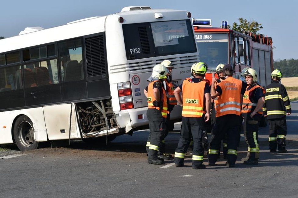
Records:
M218 104L215 107L216 117L226 114L241 114L240 94L242 82L233 77L223 80L218 86L222 89L222 94L218 96Z

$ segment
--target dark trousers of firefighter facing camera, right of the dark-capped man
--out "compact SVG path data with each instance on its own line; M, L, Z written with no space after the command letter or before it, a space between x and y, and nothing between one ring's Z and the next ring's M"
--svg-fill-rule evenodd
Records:
M243 134L250 152L249 159L259 159L258 130L262 115L256 114L253 118L250 117L250 113L243 113L242 115L244 118Z

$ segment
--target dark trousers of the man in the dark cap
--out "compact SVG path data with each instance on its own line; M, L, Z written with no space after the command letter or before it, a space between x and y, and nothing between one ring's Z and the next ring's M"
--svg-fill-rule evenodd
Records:
M239 141L239 116L236 114L227 114L216 118L211 135L210 149L208 160L215 163L218 158L221 141L227 134L228 154L227 161L230 165L234 165L237 159L237 145Z

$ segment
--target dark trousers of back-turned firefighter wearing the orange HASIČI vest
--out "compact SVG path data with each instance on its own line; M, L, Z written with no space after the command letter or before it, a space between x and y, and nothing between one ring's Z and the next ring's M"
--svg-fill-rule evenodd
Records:
M200 118L182 117L182 127L180 139L175 151L174 162L176 165L183 166L184 154L190 144L190 138L193 137L193 158L192 166L197 168L203 163L204 149L202 145L204 129L204 115Z

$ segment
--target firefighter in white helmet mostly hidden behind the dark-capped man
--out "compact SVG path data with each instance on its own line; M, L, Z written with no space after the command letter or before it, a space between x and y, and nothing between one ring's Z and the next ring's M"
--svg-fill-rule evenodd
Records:
M215 81L215 84L214 84L214 87L217 87L217 85L222 82L223 80L225 80L225 76L224 76L224 73L223 73L223 67L225 65L224 64L219 64L216 69L215 69L215 72L217 74L217 77L218 79ZM215 117L215 106L217 106L218 104L218 101L217 101L217 97L214 98L214 99L211 99L211 108L212 108L212 113L211 113L211 127L213 128L214 125L215 125L215 120L216 120L216 117ZM212 134L212 131L211 131L211 134ZM227 152L228 152L228 144L227 144L227 135L225 134L224 135L224 138L222 139L222 144L223 144L223 147L222 147L222 152L223 152L223 157L224 159L227 159ZM220 149L218 150L218 158L220 156Z

